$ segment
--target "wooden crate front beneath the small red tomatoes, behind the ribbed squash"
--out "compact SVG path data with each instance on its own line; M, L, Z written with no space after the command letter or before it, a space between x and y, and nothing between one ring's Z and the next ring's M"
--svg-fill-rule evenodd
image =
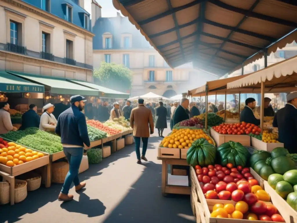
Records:
M219 134L211 128L210 135L214 139L217 146L222 145L225 142L234 141L239 142L244 146L251 145L251 137L248 135L223 135Z

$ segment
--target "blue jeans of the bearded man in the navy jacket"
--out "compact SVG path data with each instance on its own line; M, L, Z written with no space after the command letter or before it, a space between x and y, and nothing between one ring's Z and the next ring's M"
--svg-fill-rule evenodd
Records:
M69 163L69 171L65 177L61 193L68 194L71 183L79 185L78 169L83 158L83 147L63 147L63 151Z

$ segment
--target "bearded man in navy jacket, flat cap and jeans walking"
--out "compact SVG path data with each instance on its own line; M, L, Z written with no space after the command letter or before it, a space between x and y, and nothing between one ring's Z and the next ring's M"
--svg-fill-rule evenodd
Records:
M70 98L71 107L62 112L58 118L56 134L61 136L63 151L69 163L69 171L65 177L64 185L59 194L59 201L70 201L72 194L68 194L71 183L74 183L75 191L86 186L85 182L79 182L78 169L83 158L83 147L90 146L86 117L81 112L86 100L80 95Z

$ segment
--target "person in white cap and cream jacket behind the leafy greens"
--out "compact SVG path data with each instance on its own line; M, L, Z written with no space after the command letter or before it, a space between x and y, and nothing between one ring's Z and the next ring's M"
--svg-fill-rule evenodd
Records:
M54 106L53 104L49 103L45 106L43 106L44 113L40 117L40 125L39 129L43 131L55 131L56 125L57 125L57 120L55 116L52 114L54 111Z

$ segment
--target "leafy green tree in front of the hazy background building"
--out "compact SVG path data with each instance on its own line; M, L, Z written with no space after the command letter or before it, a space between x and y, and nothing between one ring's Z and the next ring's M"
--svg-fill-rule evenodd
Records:
M100 68L94 70L94 77L99 78L103 87L122 92L131 89L132 72L122 64L101 62Z

